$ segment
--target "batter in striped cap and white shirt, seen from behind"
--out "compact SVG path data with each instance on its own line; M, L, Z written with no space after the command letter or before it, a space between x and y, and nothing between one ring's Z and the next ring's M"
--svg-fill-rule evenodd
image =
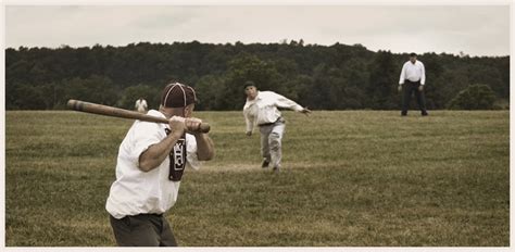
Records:
M148 115L168 124L136 121L122 141L105 203L118 245L177 245L164 214L177 201L185 169L214 153L211 138L199 131L202 121L192 117L196 100L193 88L167 85L159 111Z

